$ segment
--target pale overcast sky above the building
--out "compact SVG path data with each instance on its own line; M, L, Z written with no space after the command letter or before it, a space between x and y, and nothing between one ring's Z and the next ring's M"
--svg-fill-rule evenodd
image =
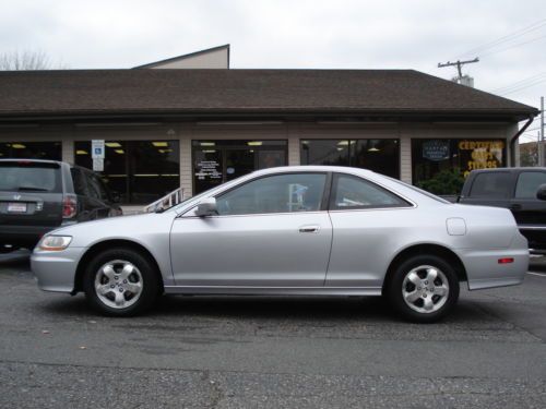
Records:
M414 69L539 108L544 0L0 0L0 55L123 69L230 45L233 69ZM522 142L536 139L539 121Z

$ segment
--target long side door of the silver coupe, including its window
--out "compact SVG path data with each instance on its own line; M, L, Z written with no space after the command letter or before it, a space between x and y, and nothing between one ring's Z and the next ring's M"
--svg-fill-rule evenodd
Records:
M173 225L177 286L323 286L332 226L325 173L254 179L216 197L218 215Z

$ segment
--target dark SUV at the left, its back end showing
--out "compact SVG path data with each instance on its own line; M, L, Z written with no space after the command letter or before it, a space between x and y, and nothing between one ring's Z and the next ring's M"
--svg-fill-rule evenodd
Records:
M61 161L0 159L0 250L64 225L121 215L100 177Z

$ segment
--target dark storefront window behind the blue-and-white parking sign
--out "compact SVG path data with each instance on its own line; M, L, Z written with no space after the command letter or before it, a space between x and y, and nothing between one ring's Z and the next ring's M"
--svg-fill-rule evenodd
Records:
M75 164L93 169L91 142L75 142ZM149 204L180 187L178 141L106 141L104 171L122 203Z

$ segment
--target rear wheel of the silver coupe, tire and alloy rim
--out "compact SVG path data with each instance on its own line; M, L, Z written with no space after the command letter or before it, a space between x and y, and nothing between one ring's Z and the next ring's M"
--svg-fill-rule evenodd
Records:
M388 282L387 296L405 320L434 323L456 304L459 278L446 260L437 255L415 255L396 267Z

